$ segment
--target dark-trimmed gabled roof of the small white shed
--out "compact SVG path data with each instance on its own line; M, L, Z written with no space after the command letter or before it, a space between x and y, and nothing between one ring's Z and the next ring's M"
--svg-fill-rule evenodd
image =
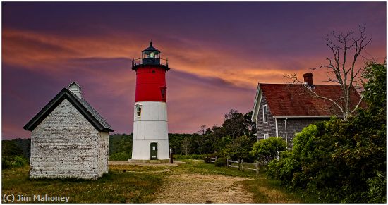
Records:
M111 125L85 99L78 98L67 88L63 88L59 94L56 94L54 99L51 99L23 128L30 131L34 130L64 99L67 99L97 130L103 132L114 131Z

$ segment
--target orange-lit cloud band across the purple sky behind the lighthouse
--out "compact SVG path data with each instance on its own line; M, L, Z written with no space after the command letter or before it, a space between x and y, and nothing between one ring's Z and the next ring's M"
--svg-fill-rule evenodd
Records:
M3 61L27 69L57 73L64 70L56 68L63 68L71 59L136 58L147 46L140 39L138 35L128 36L119 32L94 37L66 37L6 29L3 30ZM174 70L200 77L219 77L237 87L255 87L257 82L284 83L287 82L285 74L297 73L302 76L303 73L312 71L308 68L326 63L324 59L327 57L306 59L293 56L257 56L247 61L247 58L241 58L243 54L222 46L210 46L205 42L182 38L176 41L177 43L172 44L171 39L166 39L166 42L156 44L162 50L162 57L170 59L170 66ZM128 63L128 68L130 66ZM322 74L326 70L314 70L313 73L315 82L327 80L327 76ZM128 80L121 77L110 79Z

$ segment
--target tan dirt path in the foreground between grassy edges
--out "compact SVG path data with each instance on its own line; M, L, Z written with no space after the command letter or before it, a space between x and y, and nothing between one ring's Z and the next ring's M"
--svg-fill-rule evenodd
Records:
M241 185L246 178L180 174L165 180L152 203L254 203L252 194Z

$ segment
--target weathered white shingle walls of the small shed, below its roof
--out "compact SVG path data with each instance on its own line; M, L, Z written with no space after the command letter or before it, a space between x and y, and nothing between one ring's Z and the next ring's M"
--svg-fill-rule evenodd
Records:
M99 151L107 147L105 135L63 100L32 130L30 178L97 178L107 170L108 153Z

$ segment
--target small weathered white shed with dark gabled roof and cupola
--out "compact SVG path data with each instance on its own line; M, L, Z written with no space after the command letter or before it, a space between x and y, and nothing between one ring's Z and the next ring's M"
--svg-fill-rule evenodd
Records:
M24 127L31 132L30 178L95 179L108 172L109 132L73 82Z

